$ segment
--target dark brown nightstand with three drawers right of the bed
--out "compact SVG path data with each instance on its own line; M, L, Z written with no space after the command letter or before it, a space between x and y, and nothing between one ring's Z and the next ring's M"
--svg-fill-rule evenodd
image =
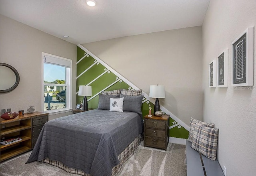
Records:
M169 117L162 115L144 117L144 147L167 148L169 142Z

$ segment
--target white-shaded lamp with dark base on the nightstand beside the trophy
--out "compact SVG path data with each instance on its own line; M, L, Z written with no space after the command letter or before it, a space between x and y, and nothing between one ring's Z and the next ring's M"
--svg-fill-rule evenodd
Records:
M164 85L150 85L149 97L156 98L154 106L154 115L156 111L160 111L159 98L165 98Z

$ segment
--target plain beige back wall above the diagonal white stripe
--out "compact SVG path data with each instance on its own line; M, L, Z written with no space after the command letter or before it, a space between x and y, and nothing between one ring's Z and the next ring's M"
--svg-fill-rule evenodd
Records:
M202 27L83 44L137 87L164 85L160 104L189 125L202 120Z

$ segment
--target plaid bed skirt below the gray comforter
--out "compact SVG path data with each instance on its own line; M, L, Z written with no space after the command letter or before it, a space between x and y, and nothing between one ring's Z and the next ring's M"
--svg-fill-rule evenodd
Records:
M120 163L112 168L112 174L111 176L116 176L118 172L122 169L122 166L124 165L124 162L126 162L135 152L138 146L140 145L140 141L142 140L142 135L140 134L137 138L135 138L130 145L128 145L119 155L118 160ZM90 174L84 173L82 170L78 170L75 168L69 168L68 166L65 166L62 162L50 160L49 158L45 158L43 162L51 164L53 166L57 166L58 168L61 168L65 170L66 172L70 172L72 174L79 174L82 176L91 176Z

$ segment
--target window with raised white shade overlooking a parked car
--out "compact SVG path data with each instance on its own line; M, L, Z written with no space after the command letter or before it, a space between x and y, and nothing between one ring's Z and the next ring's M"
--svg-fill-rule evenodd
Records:
M42 109L58 112L71 109L72 60L42 53Z

